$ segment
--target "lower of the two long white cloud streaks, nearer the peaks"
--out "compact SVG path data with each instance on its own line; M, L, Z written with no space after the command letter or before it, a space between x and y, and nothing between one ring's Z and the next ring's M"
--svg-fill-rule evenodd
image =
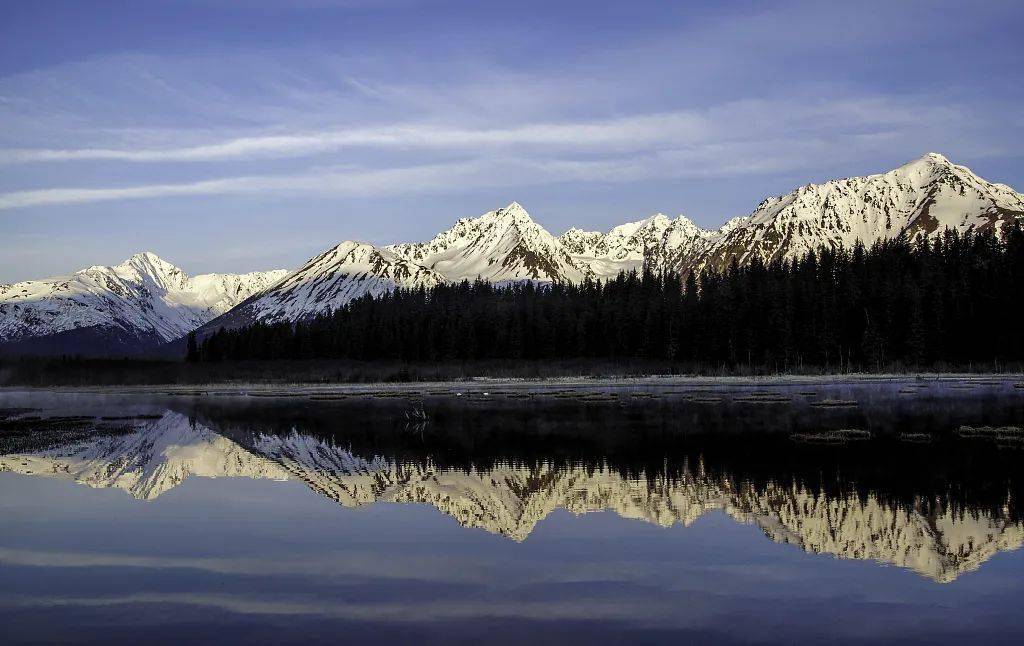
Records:
M635 122L632 125L636 125ZM756 125L754 127L757 127ZM697 139L691 144L677 144L648 152L645 149L615 149L598 146L596 139L617 142L626 146L634 136L642 136L643 127L625 127L621 130L597 129L588 138L582 132L568 130L549 133L545 128L530 130L535 141L574 142L580 146L573 154L556 155L550 150L526 152L523 155L494 154L488 156L458 157L454 161L424 162L416 165L379 167L312 168L295 173L226 176L215 179L181 183L147 183L133 186L104 187L53 187L0 193L0 210L30 207L87 204L124 200L143 200L187 196L273 193L283 196L316 195L328 197L392 197L424 192L451 192L489 187L540 186L561 182L628 183L651 179L688 178L710 179L788 173L814 168L818 160L856 161L867 159L880 150L913 149L913 156L897 158L896 162L910 161L928 150L927 137L912 135L895 129L880 129L829 133L809 131L805 137L787 137L779 134L768 136L766 128L761 137L737 137L735 140ZM586 128L583 132L589 132ZM630 133L630 134L628 134ZM452 141L462 135L455 135ZM497 145L505 140L506 132L477 133L475 141L487 140ZM425 141L426 139L419 139ZM666 141L659 144L665 146ZM240 148L256 145L231 146ZM470 146L473 147L473 146ZM571 146L570 146L571 147ZM652 146L642 146L649 148ZM193 148L182 148L182 154L196 154ZM583 150L583 153L581 153ZM941 150L940 150L941 152ZM990 149L977 150L978 155L991 154ZM882 172L888 167L864 169L864 172ZM829 177L812 173L809 180ZM751 205L753 208L753 204Z

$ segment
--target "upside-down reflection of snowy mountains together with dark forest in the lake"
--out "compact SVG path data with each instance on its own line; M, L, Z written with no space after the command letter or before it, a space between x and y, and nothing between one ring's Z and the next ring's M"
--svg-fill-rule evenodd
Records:
M295 480L344 507L426 504L516 542L558 509L666 527L722 510L776 543L940 583L1024 543L1022 454L1012 449L1019 400L982 412L938 398L908 416L890 393L861 397L853 413L804 403L779 415L767 395L733 393L731 405L743 397L769 403L709 413L693 397L630 398L580 413L586 406L557 400L503 407L428 398L416 404L427 423L411 423L404 401L172 399L148 403L147 416L105 421L94 411L91 421L15 412L0 471L139 500L190 476ZM976 426L966 424L971 416ZM871 430L837 434L848 423ZM1009 429L1001 441L964 430L997 424Z

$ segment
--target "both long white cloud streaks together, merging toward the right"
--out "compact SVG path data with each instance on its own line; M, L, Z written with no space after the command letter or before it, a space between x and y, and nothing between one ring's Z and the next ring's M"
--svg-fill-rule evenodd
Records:
M7 164L89 160L146 163L160 169L163 163L255 162L361 147L369 149L364 157L372 163L175 183L15 190L0 193L0 210L186 196L386 197L572 181L767 175L814 168L823 159L856 161L885 150L921 155L931 148L934 132L971 121L969 109L923 99L761 99L702 111L514 127L397 123L184 146L3 149L0 162ZM155 176L160 175L158 170Z

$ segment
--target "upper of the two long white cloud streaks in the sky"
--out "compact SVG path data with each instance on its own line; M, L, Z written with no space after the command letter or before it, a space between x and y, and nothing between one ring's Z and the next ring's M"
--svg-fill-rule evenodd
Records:
M846 130L939 125L963 117L956 106L883 98L735 101L702 111L677 111L617 119L534 123L516 127L453 128L399 123L366 128L234 137L174 147L79 147L0 149L0 163L106 160L118 162L218 162L305 157L349 147L479 150L495 147L553 148L617 154L683 145L817 135L842 124Z

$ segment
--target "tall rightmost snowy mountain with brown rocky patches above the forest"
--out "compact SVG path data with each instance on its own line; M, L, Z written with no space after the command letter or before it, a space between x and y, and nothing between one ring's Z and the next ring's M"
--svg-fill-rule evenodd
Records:
M807 184L769 198L746 218L730 221L702 254L675 265L722 269L737 259L793 259L822 246L866 246L901 233L933 236L995 229L1024 216L1024 196L988 182L965 166L930 153L867 177Z

